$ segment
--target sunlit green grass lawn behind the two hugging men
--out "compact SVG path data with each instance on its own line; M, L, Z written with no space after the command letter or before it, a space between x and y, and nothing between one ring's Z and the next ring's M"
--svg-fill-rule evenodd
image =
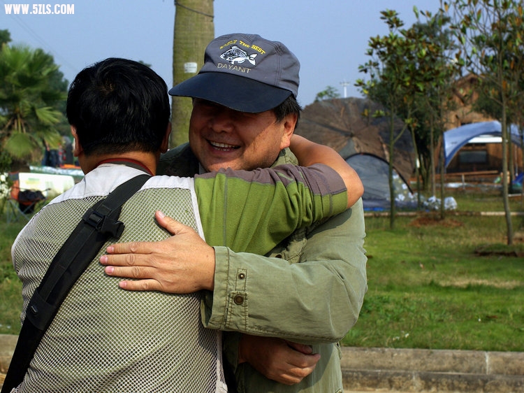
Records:
M448 195L459 212L503 210L497 192L452 190ZM520 199L511 201L511 211L524 211ZM435 217L397 217L393 230L388 217L366 218L369 290L343 344L524 351L524 243L505 245L504 216ZM512 222L514 231L524 231L523 216ZM10 245L22 227L1 217L3 334L20 331L21 285Z

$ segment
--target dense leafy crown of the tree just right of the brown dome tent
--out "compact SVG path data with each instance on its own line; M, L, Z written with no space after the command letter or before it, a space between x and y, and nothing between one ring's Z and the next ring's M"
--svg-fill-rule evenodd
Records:
M359 67L370 78L358 80L357 86L386 106L388 115L404 120L412 133L426 189L437 161L433 157L435 145L444 132L443 114L451 109L451 86L462 62L446 28L450 18L443 12L433 15L416 7L414 13L418 22L409 29L402 28L395 11L381 13L391 31L387 36L370 38L367 55L372 59ZM422 18L424 22L419 21Z

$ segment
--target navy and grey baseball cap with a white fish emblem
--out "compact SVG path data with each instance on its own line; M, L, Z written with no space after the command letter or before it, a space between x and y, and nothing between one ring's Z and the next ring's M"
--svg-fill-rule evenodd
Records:
M169 94L260 113L279 106L291 94L297 97L299 70L298 59L283 43L257 34L226 34L205 48L198 74Z

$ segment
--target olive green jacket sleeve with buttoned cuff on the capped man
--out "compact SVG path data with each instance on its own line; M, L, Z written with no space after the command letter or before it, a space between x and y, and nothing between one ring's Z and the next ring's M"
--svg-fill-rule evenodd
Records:
M356 210L349 219L351 212L334 217L332 229L319 227L298 264L216 248L205 326L309 344L339 341L356 322L367 288L363 227L353 225L363 216Z

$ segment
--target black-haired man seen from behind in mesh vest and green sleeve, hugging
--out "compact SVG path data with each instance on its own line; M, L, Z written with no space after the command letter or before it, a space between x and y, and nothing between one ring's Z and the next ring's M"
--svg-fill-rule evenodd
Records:
M154 176L170 133L167 87L147 66L126 59L105 59L80 71L68 92L67 116L85 177L45 206L13 243L22 321L85 211L143 173L152 177L124 203L120 240L168 237L152 220L156 212L159 222L188 239L187 255L198 248L201 264L184 269L194 269L198 280L180 294L123 291L118 278L103 274L103 248L61 304L15 391L225 392L220 332L205 329L199 315L203 290L214 287L212 245L268 252L296 228L353 203L347 185L356 180L354 172L333 150L298 138L293 145L310 168ZM355 184L358 197L361 185Z

